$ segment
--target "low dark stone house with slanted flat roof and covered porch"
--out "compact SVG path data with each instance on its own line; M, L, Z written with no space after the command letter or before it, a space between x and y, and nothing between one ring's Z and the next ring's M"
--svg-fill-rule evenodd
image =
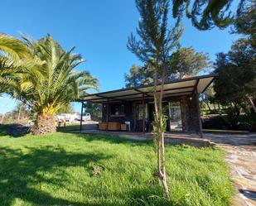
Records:
M215 74L173 80L164 84L163 103L168 132L202 133L199 94L215 79ZM157 86L160 90L161 85ZM151 132L154 104L153 85L93 93L80 99L102 103L103 119L99 129ZM82 107L83 109L83 107ZM83 111L82 111L83 112ZM128 127L122 127L123 124Z

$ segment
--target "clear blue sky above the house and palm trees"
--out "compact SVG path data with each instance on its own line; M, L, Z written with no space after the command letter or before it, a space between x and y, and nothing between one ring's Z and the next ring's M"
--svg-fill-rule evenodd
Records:
M19 32L34 40L50 33L65 50L75 46L75 52L87 60L79 70L89 70L99 79L100 91L120 89L123 75L138 59L126 44L131 31L138 26L138 12L133 0L2 0L0 32L18 36ZM198 31L184 19L186 30L181 46L193 46L197 51L215 54L229 50L239 36L229 29ZM15 101L0 97L0 113L11 111ZM75 110L80 111L78 104Z

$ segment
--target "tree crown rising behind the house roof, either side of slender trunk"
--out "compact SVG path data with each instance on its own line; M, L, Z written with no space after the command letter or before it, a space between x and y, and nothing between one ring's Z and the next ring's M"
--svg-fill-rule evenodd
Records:
M200 71L210 69L211 61L208 54L196 52L192 47L181 47L173 51L167 63L167 77L181 79L184 75L195 76ZM126 87L136 87L153 83L153 68L149 64L144 66L133 65L129 74L125 74ZM158 77L161 82L161 77Z

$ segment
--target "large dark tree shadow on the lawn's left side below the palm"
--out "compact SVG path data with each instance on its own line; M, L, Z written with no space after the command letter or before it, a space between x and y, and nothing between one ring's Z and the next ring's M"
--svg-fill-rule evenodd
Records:
M55 198L41 189L36 189L35 186L50 184L56 188L64 187L65 181L70 178L65 172L66 167L82 166L90 171L90 162L97 163L111 156L101 153L69 153L52 146L41 149L27 147L26 150L27 153L23 153L19 150L0 147L0 203L2 206L12 205L16 199L22 199L32 205L94 205ZM54 175L46 177L46 172Z

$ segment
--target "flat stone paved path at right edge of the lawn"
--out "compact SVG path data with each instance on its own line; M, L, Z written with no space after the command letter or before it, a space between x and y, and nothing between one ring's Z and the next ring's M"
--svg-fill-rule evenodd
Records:
M235 206L256 206L256 133L243 135L205 134L226 151L234 187L238 194Z

